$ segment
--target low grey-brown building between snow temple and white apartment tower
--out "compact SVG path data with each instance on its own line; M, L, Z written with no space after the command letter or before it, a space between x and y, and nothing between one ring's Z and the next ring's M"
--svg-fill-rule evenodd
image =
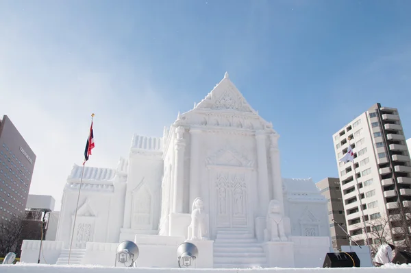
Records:
M340 180L338 178L325 178L320 182L316 182L316 187L321 191L321 195L328 200L328 222L332 248L340 250L341 246L349 246Z

